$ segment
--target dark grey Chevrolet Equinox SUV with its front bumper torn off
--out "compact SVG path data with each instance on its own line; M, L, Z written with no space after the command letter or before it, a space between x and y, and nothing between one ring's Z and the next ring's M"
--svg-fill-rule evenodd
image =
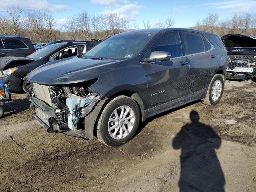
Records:
M40 66L28 74L31 115L48 132L120 146L140 122L223 93L227 50L216 34L148 29L111 36L82 58Z

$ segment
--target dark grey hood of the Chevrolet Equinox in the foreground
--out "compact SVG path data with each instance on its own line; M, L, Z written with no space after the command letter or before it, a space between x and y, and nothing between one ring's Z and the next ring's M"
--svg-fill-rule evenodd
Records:
M128 60L93 60L70 57L44 64L27 75L30 82L60 85L84 82L126 64Z

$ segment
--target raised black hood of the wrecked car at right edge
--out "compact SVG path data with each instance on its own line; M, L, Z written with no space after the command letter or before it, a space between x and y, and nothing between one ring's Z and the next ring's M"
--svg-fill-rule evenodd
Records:
M228 50L233 48L256 47L256 37L241 34L224 35L222 41Z

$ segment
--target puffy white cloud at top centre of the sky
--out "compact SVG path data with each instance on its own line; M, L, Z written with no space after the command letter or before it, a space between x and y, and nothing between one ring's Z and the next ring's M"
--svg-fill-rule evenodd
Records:
M135 20L141 8L140 5L130 3L128 0L91 0L91 2L105 6L102 14L114 13L128 20Z

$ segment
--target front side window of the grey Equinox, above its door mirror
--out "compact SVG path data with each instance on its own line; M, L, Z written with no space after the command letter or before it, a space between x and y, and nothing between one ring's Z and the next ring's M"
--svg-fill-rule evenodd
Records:
M162 35L151 47L153 51L165 51L171 53L171 58L182 56L180 36L178 32Z

